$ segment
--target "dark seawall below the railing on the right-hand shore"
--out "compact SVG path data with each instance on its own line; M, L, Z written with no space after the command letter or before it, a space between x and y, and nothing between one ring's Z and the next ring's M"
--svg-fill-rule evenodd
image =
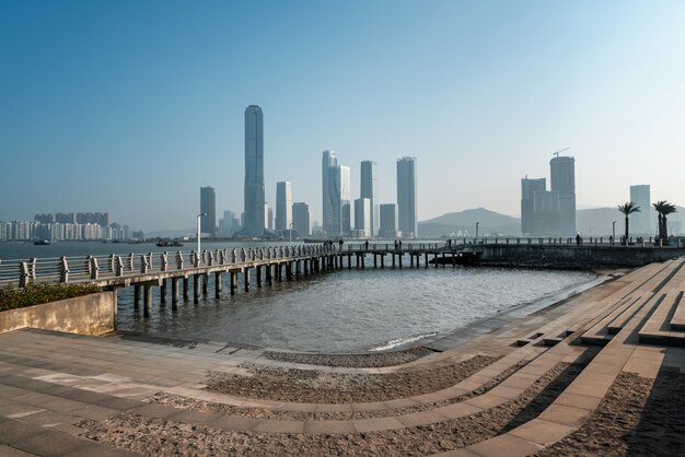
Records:
M480 263L539 268L592 269L597 267L641 267L685 255L684 248L639 246L504 245L489 244Z

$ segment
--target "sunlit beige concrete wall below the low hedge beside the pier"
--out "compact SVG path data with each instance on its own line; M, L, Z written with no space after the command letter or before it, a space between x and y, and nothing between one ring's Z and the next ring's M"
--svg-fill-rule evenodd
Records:
M102 335L116 324L115 292L102 292L0 313L0 333L20 328Z

